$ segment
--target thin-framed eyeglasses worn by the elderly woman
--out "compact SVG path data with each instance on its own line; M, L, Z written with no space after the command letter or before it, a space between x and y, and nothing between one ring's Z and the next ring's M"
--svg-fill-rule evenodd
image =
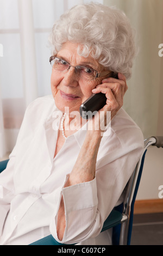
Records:
M97 77L102 77L109 75L112 71L103 71L101 73L98 73L96 70L91 69L87 66L72 66L66 60L60 59L58 57L52 56L49 59L49 62L52 65L52 68L61 72L68 71L71 67L75 69L76 74L83 79L86 80L94 80Z

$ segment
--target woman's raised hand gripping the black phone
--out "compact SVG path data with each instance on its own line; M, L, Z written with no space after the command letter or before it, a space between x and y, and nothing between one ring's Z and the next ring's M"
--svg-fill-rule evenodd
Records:
M111 111L111 119L115 117L118 110L123 105L123 97L128 89L126 83L126 77L118 73L118 79L106 78L102 80L102 84L99 84L92 93L104 93L107 100L106 105L100 111Z

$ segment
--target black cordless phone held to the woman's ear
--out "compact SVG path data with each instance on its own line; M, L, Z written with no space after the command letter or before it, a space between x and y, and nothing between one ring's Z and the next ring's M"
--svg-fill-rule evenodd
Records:
M118 79L118 75L112 76ZM86 101L80 106L80 115L84 119L92 117L94 111L99 111L106 104L106 96L103 93L92 94Z

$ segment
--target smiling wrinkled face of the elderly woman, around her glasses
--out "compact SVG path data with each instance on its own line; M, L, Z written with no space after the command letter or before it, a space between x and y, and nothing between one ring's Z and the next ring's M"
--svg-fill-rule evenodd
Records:
M58 52L57 57L66 60L70 65L87 66L98 72L102 67L97 60L92 57L82 57L77 53L78 44L67 41ZM101 84L102 78L89 81L80 78L74 68L66 72L52 69L51 89L55 100L55 105L65 112L65 107L69 107L69 112L79 111L80 105L92 94L92 89Z

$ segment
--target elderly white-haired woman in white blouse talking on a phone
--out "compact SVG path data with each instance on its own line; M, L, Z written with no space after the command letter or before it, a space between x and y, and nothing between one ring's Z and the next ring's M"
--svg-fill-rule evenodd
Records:
M103 223L122 202L143 148L141 130L122 109L133 31L120 10L91 3L62 15L49 41L52 96L28 106L0 175L0 243L28 245L52 234L62 243L108 245ZM104 94L105 104L83 123L72 111L92 93ZM108 112L111 127L103 130Z

